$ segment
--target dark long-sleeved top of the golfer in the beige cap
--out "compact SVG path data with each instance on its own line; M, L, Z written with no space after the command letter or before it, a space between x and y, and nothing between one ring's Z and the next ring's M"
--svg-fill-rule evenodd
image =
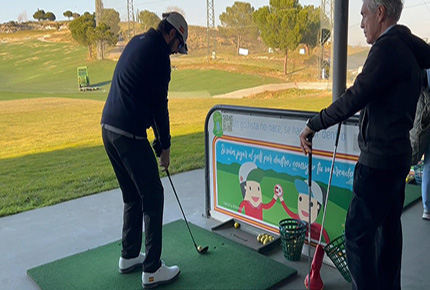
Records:
M138 136L155 125L163 149L169 148L170 73L170 48L159 31L133 37L116 65L101 123Z

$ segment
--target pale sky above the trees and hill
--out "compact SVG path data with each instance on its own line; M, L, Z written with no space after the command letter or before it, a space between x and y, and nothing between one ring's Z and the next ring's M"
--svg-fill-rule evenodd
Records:
M0 23L17 21L18 18L34 20L33 14L37 9L53 12L57 20L65 20L63 12L70 10L83 14L95 11L95 0L16 0L13 2L0 0ZM215 25L219 25L219 15L226 7L232 6L237 0L214 0ZM326 0L330 1L330 0ZM332 0L333 3L335 0ZM342 0L345 1L345 0ZM190 25L206 26L207 7L205 0L133 0L134 10L149 10L161 17L168 7L179 7L185 12L185 18ZM241 0L250 3L255 10L269 5L269 0ZM320 6L321 0L299 0L302 5ZM127 0L103 0L105 8L113 8L120 13L122 21L127 20ZM349 1L348 43L351 45L366 45L360 28L362 1ZM404 9L399 23L407 25L414 34L430 40L430 0L404 0Z

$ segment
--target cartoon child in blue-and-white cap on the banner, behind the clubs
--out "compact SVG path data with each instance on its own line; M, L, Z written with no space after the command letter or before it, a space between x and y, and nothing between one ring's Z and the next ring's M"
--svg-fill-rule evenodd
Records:
M293 213L285 204L283 196L279 197L279 200L281 201L282 206L284 207L287 214L294 218L294 219L300 219L303 221L308 222L309 221L309 189L308 184L304 182L303 180L296 179L294 181L294 185L296 186L296 189L299 193L298 201L297 201L297 211L298 213ZM323 205L323 193L320 188L320 186L315 182L312 181L311 183L311 238L313 240L319 240L320 232L321 232L321 225L318 223L315 223L318 214L322 208ZM307 233L306 233L307 235ZM325 242L328 244L330 242L330 238L326 232L325 229L323 229L323 237Z

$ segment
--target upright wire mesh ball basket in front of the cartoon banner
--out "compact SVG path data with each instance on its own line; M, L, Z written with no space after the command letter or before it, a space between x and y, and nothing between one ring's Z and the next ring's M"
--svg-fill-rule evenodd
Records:
M279 222L281 246L284 257L289 261L298 261L302 255L307 223L302 220L284 219Z

